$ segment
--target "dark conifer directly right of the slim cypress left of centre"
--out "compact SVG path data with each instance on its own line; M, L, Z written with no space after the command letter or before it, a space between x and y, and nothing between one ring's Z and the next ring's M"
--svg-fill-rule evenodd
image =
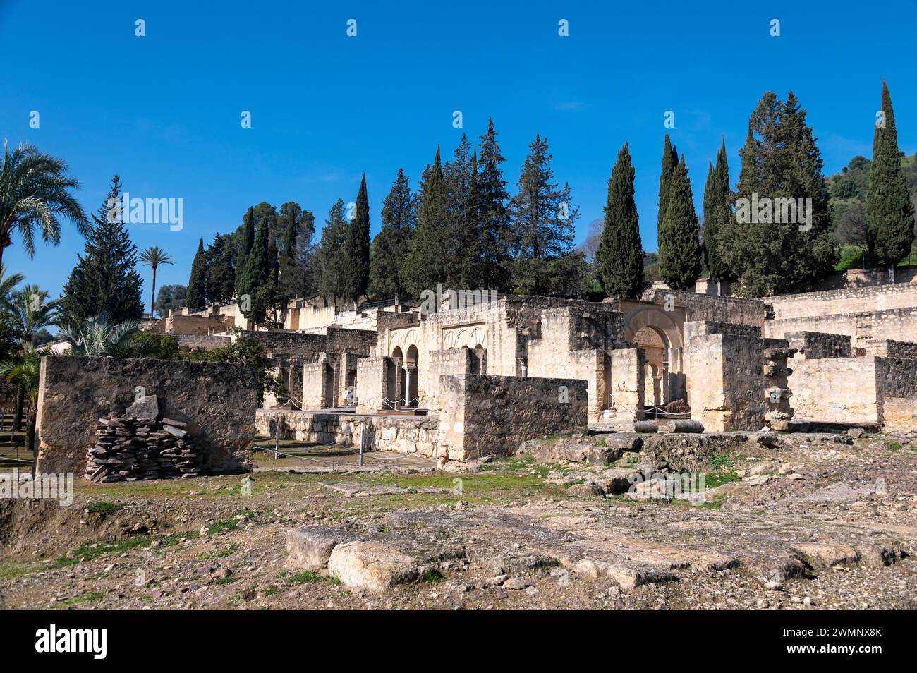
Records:
M375 292L396 299L407 291L405 276L410 238L416 225L411 185L403 169L382 204L382 228L373 241L370 280Z

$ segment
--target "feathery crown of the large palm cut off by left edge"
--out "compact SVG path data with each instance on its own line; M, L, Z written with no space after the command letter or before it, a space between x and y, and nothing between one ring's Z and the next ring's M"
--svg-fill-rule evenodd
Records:
M13 231L18 230L29 257L35 257L35 226L41 227L45 243L61 242L63 215L76 224L85 236L89 220L73 198L71 190L80 188L76 178L67 175L67 164L24 143L10 154L3 143L4 157L0 163L0 264L3 251L13 245Z

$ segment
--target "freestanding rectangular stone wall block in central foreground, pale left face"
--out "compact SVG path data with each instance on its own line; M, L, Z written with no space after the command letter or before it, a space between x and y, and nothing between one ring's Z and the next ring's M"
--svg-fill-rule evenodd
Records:
M584 432L586 381L488 375L440 379L439 453L507 456L528 439Z

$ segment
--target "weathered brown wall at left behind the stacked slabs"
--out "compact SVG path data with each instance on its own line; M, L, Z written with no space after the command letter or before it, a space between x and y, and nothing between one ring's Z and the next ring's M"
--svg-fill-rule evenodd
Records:
M238 364L183 360L46 356L39 375L39 472L82 472L99 418L134 403L138 388L159 398L160 414L188 424L204 469L249 465L258 390Z

